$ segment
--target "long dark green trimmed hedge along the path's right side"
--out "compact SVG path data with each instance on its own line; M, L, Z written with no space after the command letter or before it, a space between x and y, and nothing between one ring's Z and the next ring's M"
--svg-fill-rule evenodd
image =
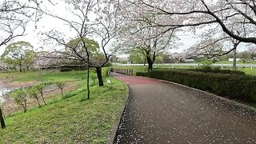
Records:
M242 102L256 102L256 77L239 74L213 74L193 70L153 70L138 76L157 78L205 90Z

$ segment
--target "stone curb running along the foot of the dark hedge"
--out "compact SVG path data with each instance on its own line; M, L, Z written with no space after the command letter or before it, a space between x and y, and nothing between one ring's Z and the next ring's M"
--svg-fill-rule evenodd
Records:
M142 78L148 78L148 77L142 77ZM190 90L196 90L196 91L199 91L203 94L207 94L207 95L213 96L214 98L218 98L222 101L230 102L230 104L234 104L235 106L239 106L239 107L242 107L242 108L245 108L245 109L248 109L248 110L253 110L253 111L256 112L256 108L253 107L253 106L249 106L249 105L243 104L241 102L236 102L236 101L228 99L228 98L223 98L221 96L218 96L216 94L212 94L212 93L209 93L209 92L206 92L206 91L203 91L203 90L198 90L194 87L185 86L185 85L182 85L182 84L179 84L179 83L170 82L170 81L166 81L166 80L162 80L162 79L156 79L156 78L150 78L150 79L154 79L154 80L157 80L157 81L160 81L160 82L166 82L166 83L174 84L176 86L182 86L182 87L185 87L185 88L190 89Z

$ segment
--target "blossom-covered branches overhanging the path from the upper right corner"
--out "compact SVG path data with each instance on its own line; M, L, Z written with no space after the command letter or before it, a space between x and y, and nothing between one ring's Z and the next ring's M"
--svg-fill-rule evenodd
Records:
M223 32L239 42L256 44L256 2L244 0L142 0L129 1L144 8L144 13L162 15L164 21L146 21L153 26L188 27L218 26ZM169 19L177 19L176 22ZM237 29L242 31L237 33ZM190 29L191 30L191 29Z

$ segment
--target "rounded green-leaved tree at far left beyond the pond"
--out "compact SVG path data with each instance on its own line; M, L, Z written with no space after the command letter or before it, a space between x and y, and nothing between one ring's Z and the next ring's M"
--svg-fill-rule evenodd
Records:
M36 53L30 42L14 42L6 47L1 56L3 62L12 66L18 66L22 72L23 66L32 66L36 60Z

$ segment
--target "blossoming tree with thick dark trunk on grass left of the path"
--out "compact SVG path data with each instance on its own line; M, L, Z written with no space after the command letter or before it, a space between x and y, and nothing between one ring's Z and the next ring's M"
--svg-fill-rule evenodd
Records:
M122 28L123 22L118 14L119 1L100 2L97 12L96 25L93 27L93 34L99 39L101 53L92 58L90 66L94 67L98 77L99 86L104 86L102 80L102 66L110 62L110 58L117 51L116 48L108 50L110 41L117 37L118 31Z

